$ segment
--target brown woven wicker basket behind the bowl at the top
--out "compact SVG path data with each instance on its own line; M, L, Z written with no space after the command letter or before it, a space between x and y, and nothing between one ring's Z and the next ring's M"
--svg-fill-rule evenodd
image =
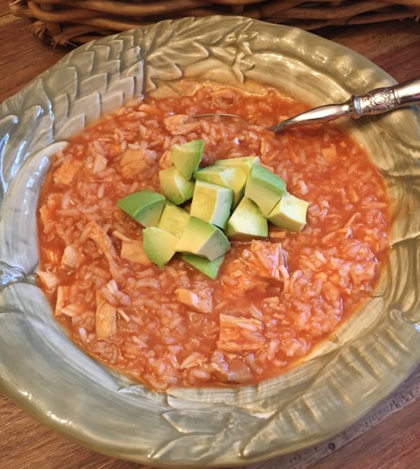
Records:
M12 0L10 10L29 18L37 36L76 44L185 16L241 15L303 29L419 20L420 0Z

